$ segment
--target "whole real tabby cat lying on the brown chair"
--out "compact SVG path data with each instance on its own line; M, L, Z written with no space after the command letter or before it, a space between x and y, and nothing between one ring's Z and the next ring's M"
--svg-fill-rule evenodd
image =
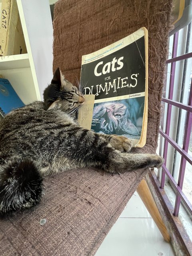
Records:
M115 173L162 165L160 156L127 153L132 145L123 136L81 128L74 112L82 104L82 93L57 69L44 102L13 110L0 122L1 215L37 204L45 174L84 167Z

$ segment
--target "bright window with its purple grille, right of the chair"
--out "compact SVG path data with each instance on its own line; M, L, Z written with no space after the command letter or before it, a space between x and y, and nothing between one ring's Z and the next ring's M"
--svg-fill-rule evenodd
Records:
M164 164L158 170L161 188L174 198L174 215L180 205L192 218L192 25L169 40L167 79L163 91L159 154ZM170 196L170 193L174 194ZM190 235L190 234L189 234Z

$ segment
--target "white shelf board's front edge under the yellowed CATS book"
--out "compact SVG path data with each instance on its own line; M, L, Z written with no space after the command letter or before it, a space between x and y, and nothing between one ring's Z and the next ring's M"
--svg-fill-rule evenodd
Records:
M30 63L28 54L18 54L0 57L0 70L29 67Z

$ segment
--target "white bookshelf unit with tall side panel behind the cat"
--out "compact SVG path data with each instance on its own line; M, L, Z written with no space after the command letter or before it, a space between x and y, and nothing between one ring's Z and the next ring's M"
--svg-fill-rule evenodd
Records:
M52 80L52 19L48 0L16 2L27 54L0 57L0 74L24 104L29 104L43 100L44 89Z

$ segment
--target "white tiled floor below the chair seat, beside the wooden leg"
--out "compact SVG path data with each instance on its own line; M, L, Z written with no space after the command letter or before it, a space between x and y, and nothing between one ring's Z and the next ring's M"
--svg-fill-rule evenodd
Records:
M137 192L104 239L95 256L174 256Z

